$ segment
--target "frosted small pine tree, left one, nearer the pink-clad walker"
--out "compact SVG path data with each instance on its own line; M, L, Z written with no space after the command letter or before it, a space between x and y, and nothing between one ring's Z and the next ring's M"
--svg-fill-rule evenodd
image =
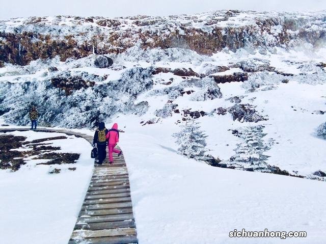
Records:
M205 149L207 135L200 130L199 122L189 119L180 127L181 130L173 134L176 143L179 145L178 152L188 158L203 160L205 158L204 153L207 151Z

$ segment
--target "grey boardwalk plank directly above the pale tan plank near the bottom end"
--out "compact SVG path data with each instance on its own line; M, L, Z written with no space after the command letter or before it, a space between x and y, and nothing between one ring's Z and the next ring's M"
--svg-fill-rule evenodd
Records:
M135 223L131 221L114 221L114 222L101 222L101 223L76 223L76 229L83 230L103 230L103 229L115 229L115 228L134 228Z

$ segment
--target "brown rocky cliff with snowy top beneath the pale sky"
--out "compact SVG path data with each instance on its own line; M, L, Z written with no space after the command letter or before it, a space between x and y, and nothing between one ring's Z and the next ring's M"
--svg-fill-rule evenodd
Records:
M181 47L211 55L223 48L294 47L325 41L326 13L216 11L169 17L31 17L0 21L0 66L39 58L82 58L142 48Z

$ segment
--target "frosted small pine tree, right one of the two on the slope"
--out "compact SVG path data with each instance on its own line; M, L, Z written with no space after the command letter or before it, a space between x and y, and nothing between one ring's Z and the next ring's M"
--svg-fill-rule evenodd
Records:
M265 135L262 126L239 129L238 137L242 139L242 142L236 145L235 155L230 158L230 166L244 170L270 172L270 167L265 161L269 156L263 154L269 149L262 139Z

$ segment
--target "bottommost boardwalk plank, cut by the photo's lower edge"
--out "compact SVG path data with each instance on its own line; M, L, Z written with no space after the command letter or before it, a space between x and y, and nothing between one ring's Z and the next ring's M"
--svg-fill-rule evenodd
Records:
M129 244L138 243L137 236L126 235L126 236L111 236L111 237L97 237L97 238L86 238L83 242L78 239L70 239L68 244Z

